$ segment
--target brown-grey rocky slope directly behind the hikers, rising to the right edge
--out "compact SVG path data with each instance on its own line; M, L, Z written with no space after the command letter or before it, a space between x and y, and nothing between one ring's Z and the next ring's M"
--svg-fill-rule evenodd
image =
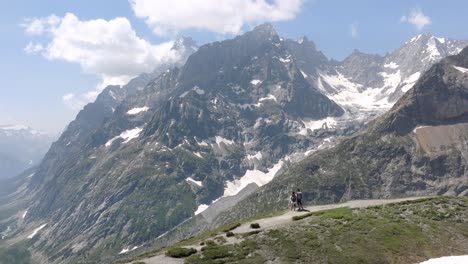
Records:
M296 188L309 204L467 196L467 59L468 48L434 65L368 129L292 166L216 223L284 208Z

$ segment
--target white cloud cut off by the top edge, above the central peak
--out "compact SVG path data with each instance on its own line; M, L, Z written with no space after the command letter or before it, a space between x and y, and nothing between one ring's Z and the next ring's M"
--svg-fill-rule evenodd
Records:
M184 29L239 33L245 24L290 20L304 0L129 0L139 18L157 35Z

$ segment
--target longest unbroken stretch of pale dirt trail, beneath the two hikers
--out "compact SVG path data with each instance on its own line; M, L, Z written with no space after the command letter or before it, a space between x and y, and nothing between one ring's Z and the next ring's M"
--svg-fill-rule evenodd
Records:
M308 207L305 207L306 211L301 211L301 212L289 211L279 216L263 218L263 219L258 219L258 220L254 220L251 222L244 223L240 227L233 230L233 232L234 233L250 232L254 230L250 228L251 223L260 224L260 228L256 230L264 230L264 229L269 229L272 227L285 225L285 224L292 222L293 216L303 215L309 212L317 212L317 211L340 208L340 207L361 208L361 207L376 206L376 205L397 203L397 202L403 202L403 201L411 201L411 200L417 200L417 199L423 199L423 198L427 198L427 197L408 197L408 198L400 198L400 199L376 199L376 200L353 200L353 201L339 203L339 204L308 206Z

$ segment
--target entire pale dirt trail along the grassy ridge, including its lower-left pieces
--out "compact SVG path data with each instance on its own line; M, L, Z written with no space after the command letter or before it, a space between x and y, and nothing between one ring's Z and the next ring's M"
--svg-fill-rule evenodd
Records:
M408 197L408 198L400 198L400 199L378 199L378 200L353 200L353 201L339 203L339 204L308 206L305 208L306 211L302 211L302 212L289 211L279 216L263 218L263 219L258 219L258 220L254 220L251 222L243 223L241 226L234 229L232 232L240 234L240 233L247 233L253 230L265 230L265 229L270 229L274 227L279 227L282 225L292 223L293 216L302 215L302 214L306 214L309 212L317 212L317 211L341 208L341 207L361 208L361 207L368 207L368 206L384 205L384 204L389 204L389 203L398 203L398 202L403 202L403 201L412 201L412 200L418 200L418 199L424 199L424 198L427 198L427 197ZM259 229L250 228L251 223L259 223L260 228ZM240 242L240 240L237 242ZM193 246L188 246L188 247L197 248L198 250L200 249L199 245L193 245ZM182 264L184 262L183 259L174 259L174 258L166 257L164 254L161 254L152 258L148 258L148 259L143 259L141 261L144 261L147 264Z

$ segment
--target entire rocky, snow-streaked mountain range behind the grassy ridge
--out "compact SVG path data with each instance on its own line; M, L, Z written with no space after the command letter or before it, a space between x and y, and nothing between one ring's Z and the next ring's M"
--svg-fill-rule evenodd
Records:
M181 39L178 63L80 111L0 207L5 245L38 263L108 263L184 223L203 222L183 236L283 208L296 186L313 203L466 195L466 49L432 66L466 44L426 34L337 62L269 24Z

